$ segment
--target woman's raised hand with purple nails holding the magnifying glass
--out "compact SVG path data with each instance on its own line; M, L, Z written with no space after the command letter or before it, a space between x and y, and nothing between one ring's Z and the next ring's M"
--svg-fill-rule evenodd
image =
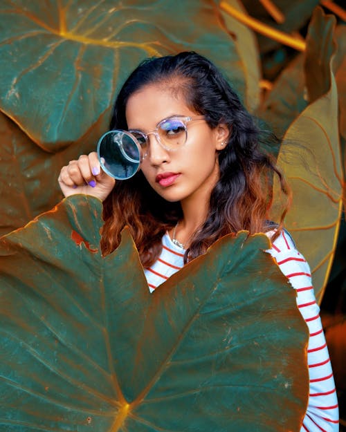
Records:
M78 160L71 160L69 165L62 167L58 178L64 196L86 194L105 200L116 180L109 177L100 167L95 151L88 156L82 155Z

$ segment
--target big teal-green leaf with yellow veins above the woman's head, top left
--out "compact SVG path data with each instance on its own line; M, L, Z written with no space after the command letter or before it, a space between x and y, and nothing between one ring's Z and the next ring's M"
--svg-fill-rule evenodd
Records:
M244 93L233 39L212 0L4 0L0 109L40 147L57 151L109 116L141 60L181 50L215 60Z

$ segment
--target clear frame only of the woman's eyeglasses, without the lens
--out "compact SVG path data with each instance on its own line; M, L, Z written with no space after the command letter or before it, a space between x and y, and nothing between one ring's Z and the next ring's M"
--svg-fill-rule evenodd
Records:
M184 140L183 144L180 144L179 146L177 146L175 148L167 147L161 141L160 134L158 133L161 126L163 124L165 124L165 122L169 122L172 120L179 120L181 122L181 126L183 126L183 128L185 130L185 140ZM156 128L154 129L154 131L143 132L143 131L140 131L138 129L129 129L128 132L131 133L132 135L134 135L134 137L136 138L136 140L140 144L140 147L142 149L142 160L143 160L147 157L147 149L149 148L149 139L148 139L149 135L154 135L158 144L160 144L161 147L163 149L165 149L166 151L176 151L178 149L181 149L181 147L183 147L186 144L186 141L188 140L188 123L194 122L196 120L206 120L206 118L204 115L197 115L195 117L190 117L188 115L172 115L171 117L164 118L163 120L158 122L158 124L156 124Z

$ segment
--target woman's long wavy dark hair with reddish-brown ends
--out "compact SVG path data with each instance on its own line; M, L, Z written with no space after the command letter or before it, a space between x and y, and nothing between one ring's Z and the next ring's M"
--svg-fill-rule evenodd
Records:
M289 190L271 156L261 143L273 140L261 131L246 111L230 84L212 62L194 52L183 52L145 60L127 78L116 99L111 129L127 129L125 116L129 97L149 84L164 85L197 114L204 115L210 128L226 124L230 131L226 147L219 151L219 180L210 195L208 217L194 233L185 262L206 252L218 238L246 229L250 234L268 230L273 175L282 191ZM282 227L289 199L282 211ZM161 239L181 218L180 203L170 203L149 186L139 171L129 180L117 180L104 200L102 252L111 253L120 243L125 225L131 231L143 267L158 259Z

